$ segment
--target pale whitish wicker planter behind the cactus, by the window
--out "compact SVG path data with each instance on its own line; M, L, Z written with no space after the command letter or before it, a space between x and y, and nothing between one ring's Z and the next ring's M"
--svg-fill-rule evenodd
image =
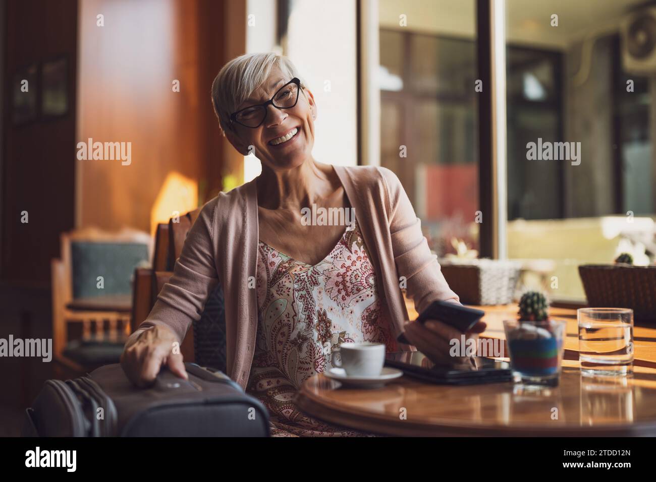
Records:
M502 260L440 260L442 273L464 304L512 303L522 265Z

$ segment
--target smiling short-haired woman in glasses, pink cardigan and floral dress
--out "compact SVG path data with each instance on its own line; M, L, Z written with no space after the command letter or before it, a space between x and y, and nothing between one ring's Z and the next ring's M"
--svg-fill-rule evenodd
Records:
M172 347L220 282L228 375L269 409L272 434L358 435L300 413L292 402L300 384L330 367L342 342L414 346L434 361L449 359L449 340L461 333L437 320L404 326L400 287L419 311L434 300L459 300L394 173L312 157L318 108L299 77L276 54L238 57L216 76L220 128L239 153L254 151L262 174L203 207L121 363L138 386L152 383L163 365L186 378ZM322 208L353 209L355 222L308 224L308 209ZM413 346L396 342L404 328ZM479 323L468 336L484 328Z

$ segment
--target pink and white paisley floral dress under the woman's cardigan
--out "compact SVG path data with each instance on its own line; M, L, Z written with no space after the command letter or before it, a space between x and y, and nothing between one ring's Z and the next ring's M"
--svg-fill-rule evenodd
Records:
M298 411L300 385L330 369L340 343L380 342L398 351L357 222L310 266L258 244L258 328L247 392L268 409L273 436L369 435L314 420Z

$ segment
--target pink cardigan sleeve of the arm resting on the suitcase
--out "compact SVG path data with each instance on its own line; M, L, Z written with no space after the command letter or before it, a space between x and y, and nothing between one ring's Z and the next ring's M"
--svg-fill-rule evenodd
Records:
M148 317L128 338L126 347L131 346L141 332L155 325L169 327L182 343L192 321L200 319L207 296L218 284L213 243L215 210L216 199L201 209L187 234L171 279L157 295Z

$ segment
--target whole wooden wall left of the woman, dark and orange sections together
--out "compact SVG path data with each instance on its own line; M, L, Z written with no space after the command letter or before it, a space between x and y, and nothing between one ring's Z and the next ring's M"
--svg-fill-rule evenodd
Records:
M245 51L246 2L10 0L5 82L21 66L66 55L68 115L14 127L3 109L3 280L49 285L58 235L77 227L149 231L167 176L216 195L243 158L220 135L211 82ZM104 26L98 26L102 14ZM180 92L172 82L180 81ZM9 106L10 89L4 89ZM77 105L76 105L77 102ZM77 142L131 142L131 165L77 160ZM180 211L188 211L184 206ZM28 211L30 224L20 223Z

